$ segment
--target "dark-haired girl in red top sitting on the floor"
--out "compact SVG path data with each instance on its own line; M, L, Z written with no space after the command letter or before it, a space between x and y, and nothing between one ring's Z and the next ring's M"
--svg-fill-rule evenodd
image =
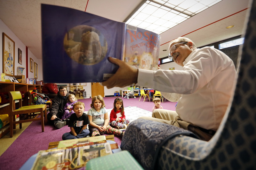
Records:
M130 119L125 119L124 103L121 98L117 97L114 100L114 108L111 110L109 117L109 122L113 128L127 128L127 124L130 123Z

